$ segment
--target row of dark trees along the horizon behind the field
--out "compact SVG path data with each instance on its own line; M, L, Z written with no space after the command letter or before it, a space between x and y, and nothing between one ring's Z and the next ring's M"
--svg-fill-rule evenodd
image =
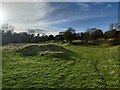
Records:
M38 33L34 35L34 30L31 33L14 32L14 26L9 24L4 24L1 27L0 33L2 34L2 45L10 43L41 43L47 41L60 41L67 42L71 44L97 44L97 42L106 42L110 41L111 45L120 44L120 30L112 29L106 32L103 32L98 28L90 28L85 32L76 33L75 29L68 28L64 32L59 32L58 35L42 35ZM75 40L80 40L81 42L75 42Z

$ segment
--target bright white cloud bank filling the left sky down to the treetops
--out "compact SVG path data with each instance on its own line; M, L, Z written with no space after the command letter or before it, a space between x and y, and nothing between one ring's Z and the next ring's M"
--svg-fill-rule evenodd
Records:
M26 31L28 28L41 28L49 33L56 29L46 27L51 23L47 21L47 16L55 10L49 3L4 3L3 6L7 11L6 23L15 25L16 32Z

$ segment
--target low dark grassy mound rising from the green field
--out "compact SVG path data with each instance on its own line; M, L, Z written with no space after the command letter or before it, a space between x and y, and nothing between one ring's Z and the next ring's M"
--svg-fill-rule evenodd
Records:
M40 54L41 56L53 56L53 57L60 57L61 54L65 54L68 52L62 46L54 45L54 44L47 44L47 45L30 45L26 46L22 49L17 50L18 53L21 53L24 56L36 56Z

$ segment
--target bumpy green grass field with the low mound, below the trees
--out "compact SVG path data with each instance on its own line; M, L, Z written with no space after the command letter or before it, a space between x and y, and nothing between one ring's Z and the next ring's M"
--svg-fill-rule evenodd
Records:
M57 45L3 46L3 88L119 87L118 46Z

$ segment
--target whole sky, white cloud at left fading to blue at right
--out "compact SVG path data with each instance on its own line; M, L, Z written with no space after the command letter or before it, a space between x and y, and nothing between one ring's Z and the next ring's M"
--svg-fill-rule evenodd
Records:
M57 34L68 27L77 32L98 27L108 30L118 20L117 2L4 2L4 23L16 27L16 32L43 29Z

